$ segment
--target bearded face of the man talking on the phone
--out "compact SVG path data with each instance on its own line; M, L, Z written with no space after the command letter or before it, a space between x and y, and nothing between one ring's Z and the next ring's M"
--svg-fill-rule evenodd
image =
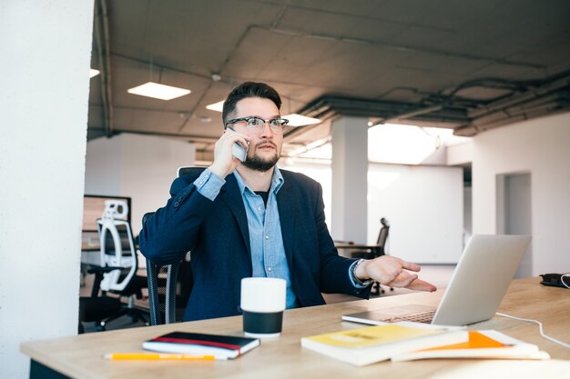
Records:
M260 97L247 97L236 104L236 116L233 118L257 116L264 120L280 117L277 106L270 100ZM268 171L280 158L283 145L283 133L270 128L269 123L259 131L249 130L244 122L233 125L233 129L251 138L248 157L243 163L246 167L261 172Z

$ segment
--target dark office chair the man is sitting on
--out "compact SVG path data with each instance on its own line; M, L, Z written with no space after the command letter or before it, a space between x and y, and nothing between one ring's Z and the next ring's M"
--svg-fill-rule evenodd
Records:
M178 177L201 174L206 167L178 167ZM143 216L143 226L154 212ZM190 252L176 264L158 265L147 260L148 307L150 324L172 324L182 319L188 297L194 284L190 267Z

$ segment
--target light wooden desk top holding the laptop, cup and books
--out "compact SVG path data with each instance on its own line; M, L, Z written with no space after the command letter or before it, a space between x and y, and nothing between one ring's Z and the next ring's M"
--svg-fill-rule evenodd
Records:
M570 342L570 293L565 288L546 287L538 278L516 280L504 297L500 312L534 318L545 324L545 333ZM476 284L474 284L476 285ZM300 337L361 327L341 322L341 314L408 303L437 304L442 294L404 294L287 311L283 333L264 340L261 346L233 361L217 362L112 362L102 358L112 352L141 351L143 341L172 331L241 335L241 317L228 317L191 323L169 324L113 332L82 334L21 345L32 359L31 376L43 365L74 378L531 378L568 377L570 350L553 344L538 334L535 324L500 316L476 324L473 329L497 329L529 343L538 344L553 360L426 360L382 362L354 367L300 347ZM41 374L41 373L40 373ZM39 377L39 376L38 376ZM52 376L50 376L52 377ZM57 376L53 376L57 377Z

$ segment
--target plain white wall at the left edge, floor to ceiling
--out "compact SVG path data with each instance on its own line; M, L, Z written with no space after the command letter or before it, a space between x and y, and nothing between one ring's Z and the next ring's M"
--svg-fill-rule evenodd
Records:
M1 378L77 333L92 25L92 1L0 2Z

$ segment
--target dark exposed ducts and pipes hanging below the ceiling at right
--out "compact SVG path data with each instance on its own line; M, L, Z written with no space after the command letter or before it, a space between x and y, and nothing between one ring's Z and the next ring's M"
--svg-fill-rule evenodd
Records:
M498 99L455 95L463 88L496 88L499 83L503 90L508 89L508 95ZM570 71L544 80L470 82L459 85L451 95L429 95L415 104L323 95L300 109L300 114L325 120L340 115L361 116L370 118L373 125L419 122L453 128L455 135L473 136L478 131L561 111L570 111Z

